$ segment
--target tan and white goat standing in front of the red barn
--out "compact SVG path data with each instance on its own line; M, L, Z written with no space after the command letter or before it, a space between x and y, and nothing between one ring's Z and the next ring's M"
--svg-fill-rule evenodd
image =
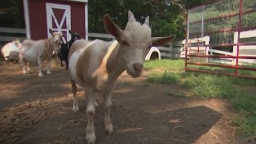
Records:
M30 63L37 63L39 66L38 76L42 77L42 67L44 61L47 61L47 74L51 74L50 65L52 52L57 52L61 43L61 34L52 32L49 29L52 37L45 40L24 40L20 45L20 60L22 63L23 74L28 74L30 71ZM26 70L26 64L28 69Z

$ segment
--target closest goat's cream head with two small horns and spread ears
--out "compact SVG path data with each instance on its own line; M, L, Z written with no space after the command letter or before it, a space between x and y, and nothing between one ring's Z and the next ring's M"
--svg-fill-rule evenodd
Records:
M166 45L175 38L175 35L152 38L149 17L141 25L130 11L124 30L118 28L108 14L104 15L104 27L120 44L122 62L127 74L132 77L139 77L143 73L143 63L152 46Z

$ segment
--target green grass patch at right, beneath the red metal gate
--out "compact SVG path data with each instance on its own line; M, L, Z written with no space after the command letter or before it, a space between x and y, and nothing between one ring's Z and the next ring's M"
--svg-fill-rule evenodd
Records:
M243 136L256 134L256 95L246 87L256 88L256 81L238 77L228 77L199 72L184 72L184 61L147 61L145 68L150 70L150 83L178 84L202 99L228 99L240 113L234 118L239 133ZM159 68L162 70L159 72ZM173 95L166 92L165 95Z

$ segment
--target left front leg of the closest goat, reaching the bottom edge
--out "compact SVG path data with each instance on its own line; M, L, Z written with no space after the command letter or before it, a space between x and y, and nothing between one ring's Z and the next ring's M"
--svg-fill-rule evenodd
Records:
M86 97L86 116L87 116L87 127L86 127L86 141L88 144L94 144L96 140L93 119L95 115L94 107L94 94L92 88L84 88L84 97Z

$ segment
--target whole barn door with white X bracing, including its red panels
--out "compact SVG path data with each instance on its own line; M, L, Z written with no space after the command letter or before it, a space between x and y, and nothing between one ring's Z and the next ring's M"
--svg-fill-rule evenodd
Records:
M60 33L67 33L63 42L66 43L71 39L68 30L71 30L70 6L65 4L46 3L46 17L47 17L47 35L51 37L49 29L58 31Z

